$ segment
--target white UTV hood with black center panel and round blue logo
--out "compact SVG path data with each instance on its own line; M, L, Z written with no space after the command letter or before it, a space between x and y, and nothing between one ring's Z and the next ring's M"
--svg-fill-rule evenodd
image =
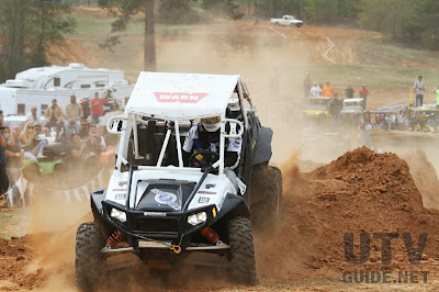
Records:
M184 172L172 168L164 170L136 170L133 172L130 207L145 212L182 211L188 198L202 177L202 172ZM114 170L105 200L126 205L128 171ZM227 193L236 193L234 184L225 175L207 175L188 210L215 204L223 206Z

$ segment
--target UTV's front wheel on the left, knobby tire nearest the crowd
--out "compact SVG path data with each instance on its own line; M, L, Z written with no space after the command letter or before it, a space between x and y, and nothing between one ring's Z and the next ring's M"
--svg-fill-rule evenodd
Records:
M94 223L79 225L76 234L75 273L78 291L97 291L103 273L101 248L104 242Z

